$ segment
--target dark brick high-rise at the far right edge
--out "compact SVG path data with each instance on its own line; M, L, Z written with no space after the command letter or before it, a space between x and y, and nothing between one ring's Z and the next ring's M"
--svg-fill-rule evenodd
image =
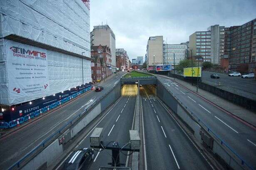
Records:
M253 72L256 68L256 19L230 27L231 71Z

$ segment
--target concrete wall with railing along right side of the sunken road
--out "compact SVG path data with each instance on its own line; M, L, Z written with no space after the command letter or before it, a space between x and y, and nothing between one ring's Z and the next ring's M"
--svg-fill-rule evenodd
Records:
M164 101L193 131L196 140L200 143L202 140L201 133L205 133L213 139L211 144L212 152L221 158L226 165L234 170L251 169L254 168L249 165L236 151L229 146L225 140L221 139L218 134L212 131L204 121L202 121L196 113L192 112L189 107L179 101L177 96L168 90L167 86L161 81L157 82L157 96ZM203 130L202 130L203 128Z

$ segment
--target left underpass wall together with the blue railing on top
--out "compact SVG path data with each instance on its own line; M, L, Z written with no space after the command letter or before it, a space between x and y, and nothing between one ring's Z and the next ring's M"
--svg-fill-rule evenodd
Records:
M72 118L72 120L68 121L64 126L52 133L23 158L8 168L8 170L47 169L52 163L56 163L56 160L60 155L64 155L64 151L67 149L63 147L64 143L67 143L67 141L85 128L120 96L121 84L120 81L118 81L106 94L89 105L87 109Z

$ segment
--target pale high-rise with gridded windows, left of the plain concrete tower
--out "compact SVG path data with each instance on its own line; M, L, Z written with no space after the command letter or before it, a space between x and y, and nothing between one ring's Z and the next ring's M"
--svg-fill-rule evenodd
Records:
M212 62L211 57L211 31L198 31L189 36L189 56L199 56L204 62Z

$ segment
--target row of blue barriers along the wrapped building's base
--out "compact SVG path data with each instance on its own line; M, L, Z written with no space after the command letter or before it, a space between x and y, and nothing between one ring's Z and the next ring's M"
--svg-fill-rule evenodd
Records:
M71 99L74 99L77 96L80 96L81 94L91 90L91 88L92 88L92 86L89 86L86 89L83 89L83 90L81 90L81 91L79 91L79 92L77 92L75 94L72 94L71 96L68 96L68 97L66 97L64 99L61 99L60 101L56 101L55 103L52 103L52 104L50 104L48 106L45 106L44 108L41 108L41 109L39 109L37 111L34 111L34 112L30 113L30 114L27 114L25 116L17 118L17 119L15 119L13 121L10 121L10 122L0 122L0 128L13 128L13 127L17 126L17 122L19 122L19 124L22 124L22 123L28 121L29 116L30 116L30 118L33 118L35 116L39 116L42 113L45 113L45 112L50 111L51 109L53 109L53 108L55 108L57 106L60 106L60 104L66 103L67 101L70 101Z

